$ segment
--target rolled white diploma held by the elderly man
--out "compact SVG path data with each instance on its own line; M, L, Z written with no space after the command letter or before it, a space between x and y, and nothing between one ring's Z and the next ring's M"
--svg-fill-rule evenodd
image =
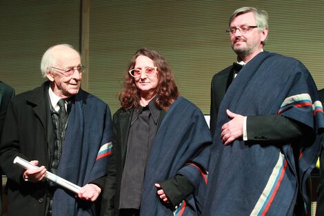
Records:
M30 164L29 161L26 161L26 159L22 159L19 156L14 158L14 164L17 164L18 166L21 166L22 168L25 168L26 170L39 168L39 166ZM50 173L48 171L46 171L45 178L50 181L53 181L55 184L58 184L59 186L61 186L63 188L71 190L74 193L79 193L79 191L81 189L80 186L77 186L76 184L73 184L72 182L63 179L62 177L59 177L58 175L54 175L53 173Z

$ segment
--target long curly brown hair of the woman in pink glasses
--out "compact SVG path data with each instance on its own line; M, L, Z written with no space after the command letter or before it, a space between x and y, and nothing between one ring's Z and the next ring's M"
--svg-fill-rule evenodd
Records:
M134 57L132 57L128 71L134 69L136 58L140 55L149 57L154 61L154 66L156 66L159 73L159 84L156 88L156 94L159 97L156 99L155 105L161 110L168 110L172 103L179 97L179 90L176 87L173 72L168 61L156 50L140 48L136 51ZM131 108L138 109L141 106L139 103L141 98L140 92L136 87L134 77L128 71L125 73L123 88L119 93L119 101L121 102L121 107L125 110L130 110Z

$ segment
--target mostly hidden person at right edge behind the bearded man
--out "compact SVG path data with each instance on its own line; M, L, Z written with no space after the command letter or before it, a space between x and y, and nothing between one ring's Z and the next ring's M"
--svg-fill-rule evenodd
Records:
M321 98L322 104L324 104L324 88L318 90L319 97ZM317 204L316 204L316 216L324 215L324 143L321 145L320 159L320 184L318 185L317 191Z

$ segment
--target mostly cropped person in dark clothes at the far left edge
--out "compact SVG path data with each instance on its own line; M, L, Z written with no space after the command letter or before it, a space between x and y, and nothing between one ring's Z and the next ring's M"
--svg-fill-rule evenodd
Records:
M3 122L6 117L7 106L10 99L14 97L14 89L0 81L0 140ZM0 172L0 186L2 187L2 173ZM2 215L2 190L0 193L0 215Z

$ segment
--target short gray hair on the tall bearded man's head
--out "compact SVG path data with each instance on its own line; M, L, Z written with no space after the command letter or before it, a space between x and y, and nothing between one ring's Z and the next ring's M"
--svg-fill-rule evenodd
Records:
M232 16L230 17L230 22L228 23L228 26L231 25L233 19L239 15L239 14L245 14L247 12L253 12L254 13L254 17L256 20L256 26L258 26L259 30L264 30L265 28L269 29L269 25L267 23L267 19L268 19L268 15L267 12L265 12L265 10L258 10L256 8L252 8L252 7L243 7L243 8L239 8L237 10L235 10L232 13ZM265 45L265 42L267 41L267 37L265 38L265 40L263 41L263 46Z

